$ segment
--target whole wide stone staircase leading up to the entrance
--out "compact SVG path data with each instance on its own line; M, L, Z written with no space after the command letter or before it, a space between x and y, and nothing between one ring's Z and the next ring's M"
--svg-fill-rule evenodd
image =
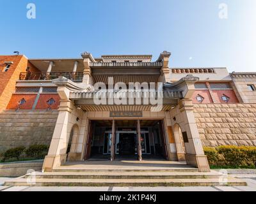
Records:
M85 166L85 165L84 165ZM182 166L182 165L181 165ZM246 182L224 177L217 171L198 172L187 165L147 166L61 166L53 172L34 172L6 181L4 186L246 186ZM221 183L221 181L226 181Z

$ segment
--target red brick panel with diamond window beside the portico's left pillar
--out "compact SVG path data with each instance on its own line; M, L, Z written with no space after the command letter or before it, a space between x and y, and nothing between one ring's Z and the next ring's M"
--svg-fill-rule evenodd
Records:
M49 106L46 102L51 98L53 98L55 101L55 103L51 106L51 109L57 110L58 106L60 105L60 96L58 94L40 94L36 109L46 110Z

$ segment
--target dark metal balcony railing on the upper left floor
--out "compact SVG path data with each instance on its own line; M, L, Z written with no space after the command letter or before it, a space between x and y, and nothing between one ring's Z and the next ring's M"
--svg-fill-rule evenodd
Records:
M83 72L21 72L19 80L52 80L61 76L73 82L83 81Z

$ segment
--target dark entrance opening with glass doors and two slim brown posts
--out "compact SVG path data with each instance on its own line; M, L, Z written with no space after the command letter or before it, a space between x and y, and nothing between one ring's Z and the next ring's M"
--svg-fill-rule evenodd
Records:
M167 160L162 124L162 120L91 120L84 159Z

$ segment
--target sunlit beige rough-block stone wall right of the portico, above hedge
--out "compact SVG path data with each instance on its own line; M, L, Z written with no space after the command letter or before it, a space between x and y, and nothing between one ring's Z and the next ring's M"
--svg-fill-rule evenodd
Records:
M256 146L256 104L195 105L196 124L202 143Z

